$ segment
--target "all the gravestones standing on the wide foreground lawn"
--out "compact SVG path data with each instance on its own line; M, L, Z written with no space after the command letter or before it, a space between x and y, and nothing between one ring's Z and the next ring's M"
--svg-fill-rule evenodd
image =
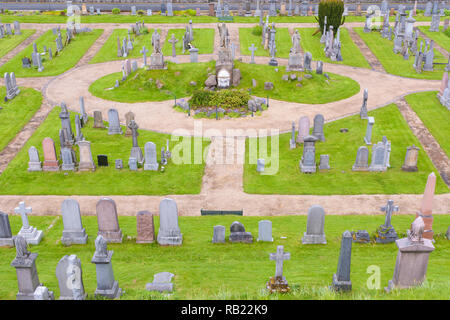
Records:
M416 213L416 219L407 230L405 238L398 238L395 228L392 226L394 212L399 207L388 200L381 211L385 212L385 223L375 232L373 242L375 244L387 244L395 242L398 247L397 260L392 280L385 288L387 292L392 289L403 289L420 286L425 279L429 255L435 250L433 245L434 233L432 230L432 202L436 176L431 173L428 177L420 210ZM16 257L11 266L16 268L19 292L18 300L53 300L54 294L39 282L36 258L38 254L28 251L27 245L38 245L43 238L42 230L37 230L28 221L28 214L32 212L24 202L20 202L15 208L15 213L22 218L22 228L17 236L12 236L9 217L0 212L0 246L15 246ZM66 199L61 205L64 229L61 243L64 246L73 244L84 245L88 235L83 227L81 211L78 202L74 199ZM107 250L108 243L122 243L123 233L119 225L117 207L111 198L101 198L96 205L98 233L95 240L95 252L91 263L96 265L97 288L95 296L109 299L118 298L122 294L119 283L114 278L112 268L113 251ZM165 198L159 205L160 227L157 236L154 228L154 215L149 211L139 211L136 215L137 237L136 244L154 243L160 246L181 246L183 234L178 224L178 207L174 200ZM308 210L306 232L303 233L301 242L303 245L326 245L325 210L320 205L313 205ZM230 243L254 242L251 232L245 231L245 227L239 221L230 226L228 241ZM450 239L450 227L447 231ZM274 242L272 237L272 222L261 220L258 222L258 238L261 242ZM353 243L371 242L366 230L357 232L345 231L342 234L341 249L338 267L332 275L330 289L335 291L351 291L351 256ZM225 226L213 227L211 244L226 243ZM266 283L266 289L271 292L286 293L290 291L287 279L283 276L283 263L291 258L290 253L284 252L284 247L277 246L275 253L269 254L269 259L276 263L275 275ZM84 300L87 293L84 291L81 261L76 255L65 255L56 266L56 277L62 300ZM171 279L174 274L162 272L154 275L153 282L146 284L146 290L158 292L172 292L174 290ZM70 280L70 281L69 281Z

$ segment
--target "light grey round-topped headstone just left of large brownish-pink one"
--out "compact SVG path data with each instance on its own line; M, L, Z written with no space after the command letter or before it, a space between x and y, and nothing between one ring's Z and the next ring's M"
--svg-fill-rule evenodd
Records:
M80 205L74 199L66 199L61 205L64 230L61 243L70 246L72 244L86 244L87 234L81 222Z

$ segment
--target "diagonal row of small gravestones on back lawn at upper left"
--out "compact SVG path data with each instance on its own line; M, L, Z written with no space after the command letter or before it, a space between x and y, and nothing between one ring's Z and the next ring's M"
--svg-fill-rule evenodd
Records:
M76 37L77 34L92 32L92 29L87 27L80 28L79 26L72 24L70 25L70 27L66 28L66 36L64 41L62 39L60 27L53 28L52 32L53 35L56 36L56 52L53 53L50 45L48 45L48 47L47 45L43 45L42 52L39 52L36 42L33 42L33 52L31 53L31 60L29 57L22 58L22 68L37 68L38 72L44 71L43 62L46 59L50 61L58 57L58 55L61 54L64 48L70 44L70 42Z

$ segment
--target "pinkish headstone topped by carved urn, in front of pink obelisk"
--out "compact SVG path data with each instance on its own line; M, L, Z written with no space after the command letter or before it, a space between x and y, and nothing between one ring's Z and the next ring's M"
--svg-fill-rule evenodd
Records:
M434 246L430 239L423 237L424 228L422 217L417 217L411 224L408 237L395 241L398 247L397 260L394 276L389 280L386 291L420 286L425 280L429 256L434 251Z

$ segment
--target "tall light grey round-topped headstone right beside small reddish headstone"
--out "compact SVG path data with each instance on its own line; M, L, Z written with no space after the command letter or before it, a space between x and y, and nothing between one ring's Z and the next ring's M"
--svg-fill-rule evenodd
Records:
M165 198L159 204L159 231L157 241L159 245L181 245L183 235L178 226L177 203Z

